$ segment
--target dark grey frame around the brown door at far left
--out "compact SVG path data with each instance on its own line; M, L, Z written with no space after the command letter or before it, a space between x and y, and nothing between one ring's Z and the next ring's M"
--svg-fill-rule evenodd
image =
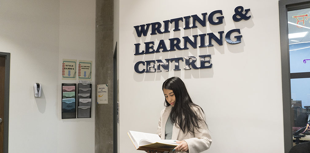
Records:
M0 52L1 57L5 57L4 76L4 133L3 133L3 153L8 153L9 140L9 96L10 96L10 59L11 53Z

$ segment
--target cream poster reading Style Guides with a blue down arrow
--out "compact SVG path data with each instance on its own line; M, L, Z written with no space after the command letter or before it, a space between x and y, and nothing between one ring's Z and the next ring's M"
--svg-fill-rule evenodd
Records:
M77 60L62 59L63 80L76 80L76 63Z

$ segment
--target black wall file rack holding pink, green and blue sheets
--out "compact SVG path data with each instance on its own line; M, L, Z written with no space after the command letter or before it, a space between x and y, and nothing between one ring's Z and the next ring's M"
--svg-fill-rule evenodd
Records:
M76 118L76 83L62 83L61 118Z

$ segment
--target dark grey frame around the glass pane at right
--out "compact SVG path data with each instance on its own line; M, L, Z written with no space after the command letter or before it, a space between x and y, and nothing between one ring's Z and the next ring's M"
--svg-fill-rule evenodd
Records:
M291 124L291 89L290 89L290 53L288 42L287 10L292 7L309 4L309 0L280 0L279 24L281 47L281 74L282 74L282 100L283 100L283 134L284 152L288 153L293 147L293 133Z

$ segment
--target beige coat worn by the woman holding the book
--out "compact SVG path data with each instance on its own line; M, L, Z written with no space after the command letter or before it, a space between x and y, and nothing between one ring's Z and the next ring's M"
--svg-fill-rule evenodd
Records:
M197 114L200 115L202 119L205 120L205 115L202 113L200 108L193 107L192 108ZM166 122L168 120L168 117L170 115L170 112L172 110L172 106L168 106L165 109L162 110L160 114L160 118L158 121L158 129L157 129L157 134L162 138L165 139L165 127L166 127ZM201 127L199 131L197 128L195 128L195 134L192 133L183 133L180 128L175 126L175 123L173 125L172 129L172 140L179 140L182 141L184 140L187 145L188 145L188 153L199 153L202 151L205 151L209 149L211 145L211 136L208 127L204 123L199 123L199 126ZM170 151L171 152L171 151ZM173 151L176 153L176 151ZM184 151L183 151L184 152ZM184 153L186 153L184 152ZM178 152L181 153L181 152Z

